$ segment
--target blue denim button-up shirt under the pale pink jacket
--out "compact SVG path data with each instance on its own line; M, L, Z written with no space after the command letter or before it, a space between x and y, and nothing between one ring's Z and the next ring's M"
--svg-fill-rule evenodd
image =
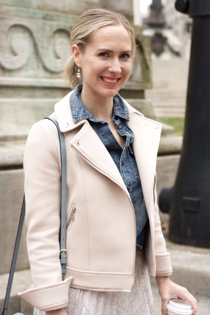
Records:
M99 118L94 117L85 107L81 98L82 83L78 84L70 96L70 107L74 123L88 119L91 127L94 129L100 140L110 153L113 161L118 168L125 186L128 189L133 203L136 216L136 247L142 248L145 243L145 225L148 215L145 206L145 200L142 192L139 171L136 159L132 150L134 139L133 131L128 126L127 120L130 119L128 107L123 102L121 96L117 93L114 96L114 107L112 121L116 125L116 131L126 138L124 148L119 145L115 136L109 128L109 124ZM117 198L117 197L116 197Z

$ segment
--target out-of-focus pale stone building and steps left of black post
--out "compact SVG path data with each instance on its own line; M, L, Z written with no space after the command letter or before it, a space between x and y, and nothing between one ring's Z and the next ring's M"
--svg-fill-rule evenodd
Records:
M192 20L176 11L174 0L150 2L143 13L143 34L152 38L160 52L153 49L153 89L145 95L158 117L184 117Z

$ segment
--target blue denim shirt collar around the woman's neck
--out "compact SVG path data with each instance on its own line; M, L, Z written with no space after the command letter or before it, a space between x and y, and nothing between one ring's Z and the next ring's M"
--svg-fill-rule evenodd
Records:
M80 92L82 90L83 83L80 83L76 86L74 92L70 96L70 107L73 117L73 122L77 123L82 119L89 119L91 121L100 121L99 118L94 117L88 109L85 107L84 103L80 98ZM128 107L125 105L122 97L117 93L114 97L114 107L113 107L113 116L114 119L116 116L124 118L126 120L130 119Z

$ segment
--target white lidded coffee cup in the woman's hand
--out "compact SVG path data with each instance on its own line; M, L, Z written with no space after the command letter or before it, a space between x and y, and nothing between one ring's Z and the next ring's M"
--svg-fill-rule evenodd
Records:
M191 315L192 307L184 300L172 299L167 304L167 315Z

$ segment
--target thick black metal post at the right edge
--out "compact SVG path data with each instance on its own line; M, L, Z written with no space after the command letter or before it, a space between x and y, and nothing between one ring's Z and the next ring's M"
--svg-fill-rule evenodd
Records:
M193 28L183 148L169 211L169 239L209 248L210 1L177 2L188 5Z

